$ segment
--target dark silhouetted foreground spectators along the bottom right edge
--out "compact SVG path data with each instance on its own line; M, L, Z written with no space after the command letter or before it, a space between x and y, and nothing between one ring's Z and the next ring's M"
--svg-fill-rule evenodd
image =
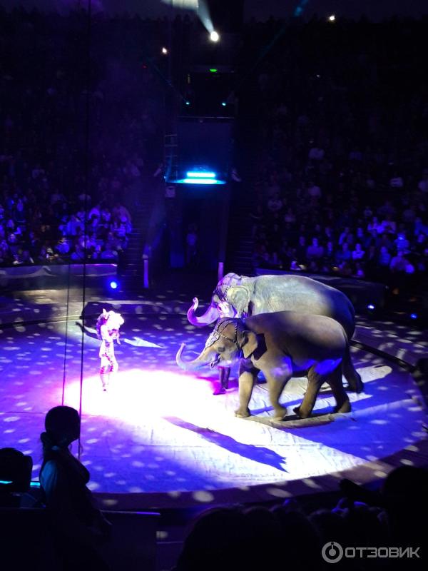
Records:
M203 512L173 571L284 565L330 569L332 564L352 571L422 569L424 530L419 517L427 507L426 470L392 470L379 492L350 480L340 485L343 497L335 507L317 507L317 502L329 503L318 497L309 506L293 498L270 508L218 507Z

